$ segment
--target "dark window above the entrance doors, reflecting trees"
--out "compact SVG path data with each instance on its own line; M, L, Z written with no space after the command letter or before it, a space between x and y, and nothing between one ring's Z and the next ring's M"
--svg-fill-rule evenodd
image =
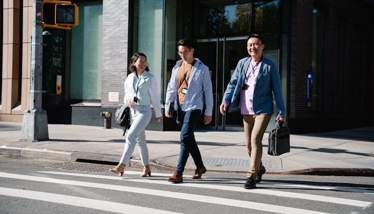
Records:
M279 0L199 1L194 12L195 37L278 30Z

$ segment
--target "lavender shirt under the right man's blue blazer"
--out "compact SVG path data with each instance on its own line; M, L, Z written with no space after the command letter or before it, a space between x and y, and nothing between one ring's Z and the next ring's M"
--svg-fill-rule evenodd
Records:
M253 92L256 85L256 77L260 71L261 62L250 62L245 74L244 84L247 90L240 90L240 110L241 114L255 114L253 110Z

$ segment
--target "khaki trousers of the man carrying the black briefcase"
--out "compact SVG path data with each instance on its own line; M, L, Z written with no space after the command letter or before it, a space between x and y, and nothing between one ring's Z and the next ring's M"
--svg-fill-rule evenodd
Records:
M251 165L247 177L256 179L257 173L263 168L262 137L264 136L271 114L243 114L245 144L251 158Z

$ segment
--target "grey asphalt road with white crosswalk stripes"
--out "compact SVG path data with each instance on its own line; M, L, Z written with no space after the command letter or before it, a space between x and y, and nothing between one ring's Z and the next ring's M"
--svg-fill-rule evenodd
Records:
M210 173L172 184L173 172L140 178L126 168L0 156L0 213L373 214L372 177L267 175L256 189L245 174Z

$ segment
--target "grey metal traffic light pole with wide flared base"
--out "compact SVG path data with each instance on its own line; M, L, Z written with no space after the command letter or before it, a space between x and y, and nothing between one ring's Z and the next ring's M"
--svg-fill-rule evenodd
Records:
M43 23L42 0L33 0L32 39L31 39L31 76L30 108L23 114L22 140L47 140L47 112L41 108L42 61L43 61Z

